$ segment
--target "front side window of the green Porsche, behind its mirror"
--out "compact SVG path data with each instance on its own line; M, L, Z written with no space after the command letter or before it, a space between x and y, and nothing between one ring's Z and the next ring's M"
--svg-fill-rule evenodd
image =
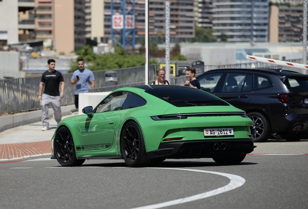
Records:
M100 113L120 110L122 109L127 95L128 92L125 91L115 92L108 96L104 101L102 101L101 104L99 104L93 112Z

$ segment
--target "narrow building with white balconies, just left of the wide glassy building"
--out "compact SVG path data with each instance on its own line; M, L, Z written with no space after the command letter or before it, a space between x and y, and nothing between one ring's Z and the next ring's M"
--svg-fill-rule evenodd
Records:
M213 0L195 1L195 24L202 28L213 27Z

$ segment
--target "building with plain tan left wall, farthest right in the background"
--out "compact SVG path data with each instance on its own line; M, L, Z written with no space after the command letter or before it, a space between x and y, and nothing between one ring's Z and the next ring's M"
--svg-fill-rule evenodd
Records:
M303 40L303 7L270 7L269 42L299 42Z

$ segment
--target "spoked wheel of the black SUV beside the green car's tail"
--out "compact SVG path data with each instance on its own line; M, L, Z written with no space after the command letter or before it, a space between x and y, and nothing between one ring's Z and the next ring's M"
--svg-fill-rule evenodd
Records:
M267 119L258 112L247 113L247 116L253 121L253 141L265 142L271 134Z

